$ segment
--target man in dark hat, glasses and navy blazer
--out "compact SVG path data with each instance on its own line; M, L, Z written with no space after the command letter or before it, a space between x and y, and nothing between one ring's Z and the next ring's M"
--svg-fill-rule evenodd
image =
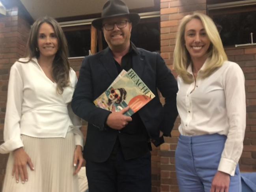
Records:
M108 0L101 18L92 22L103 31L108 47L84 58L72 101L75 114L88 121L84 158L90 192L150 192L150 141L162 144L178 115L177 82L164 60L130 41L132 26L139 20L121 0ZM131 117L123 115L129 107L120 112L96 107L93 101L122 69L131 68L156 97ZM164 106L157 90L165 98Z

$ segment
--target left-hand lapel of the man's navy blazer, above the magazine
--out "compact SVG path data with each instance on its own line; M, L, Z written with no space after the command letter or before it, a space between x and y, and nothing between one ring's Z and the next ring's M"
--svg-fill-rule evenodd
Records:
M106 68L112 80L114 80L116 76L118 76L118 72L116 70L116 64L109 47L104 50L103 55L100 57L100 61Z

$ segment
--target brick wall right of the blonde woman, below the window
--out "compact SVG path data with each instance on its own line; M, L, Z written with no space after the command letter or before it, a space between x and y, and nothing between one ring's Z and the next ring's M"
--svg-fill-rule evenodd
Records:
M245 75L247 126L240 170L256 171L256 46L226 47L225 50L228 59L238 63Z

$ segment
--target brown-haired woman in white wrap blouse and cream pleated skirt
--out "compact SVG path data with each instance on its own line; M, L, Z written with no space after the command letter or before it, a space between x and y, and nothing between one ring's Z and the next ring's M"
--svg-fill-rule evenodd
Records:
M62 28L51 17L33 24L27 57L9 76L4 144L10 153L3 192L77 192L83 162L80 119L70 102L77 77Z

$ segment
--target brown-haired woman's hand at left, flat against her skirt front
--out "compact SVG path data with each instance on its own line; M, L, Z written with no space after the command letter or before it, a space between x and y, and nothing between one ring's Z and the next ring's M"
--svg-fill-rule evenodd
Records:
M24 184L28 181L28 171L27 164L31 170L34 170L34 165L28 154L24 151L23 147L15 149L13 151L14 164L12 175L15 175L16 183L19 183L19 176L21 177L21 182Z

